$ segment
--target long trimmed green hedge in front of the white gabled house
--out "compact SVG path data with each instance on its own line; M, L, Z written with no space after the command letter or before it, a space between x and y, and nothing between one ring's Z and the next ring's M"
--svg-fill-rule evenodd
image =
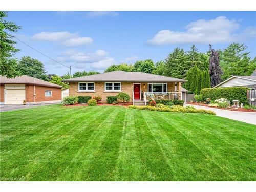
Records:
M210 98L212 101L220 98L232 100L239 100L240 103L248 104L246 87L231 87L231 88L205 88L201 90L201 95L205 101Z

